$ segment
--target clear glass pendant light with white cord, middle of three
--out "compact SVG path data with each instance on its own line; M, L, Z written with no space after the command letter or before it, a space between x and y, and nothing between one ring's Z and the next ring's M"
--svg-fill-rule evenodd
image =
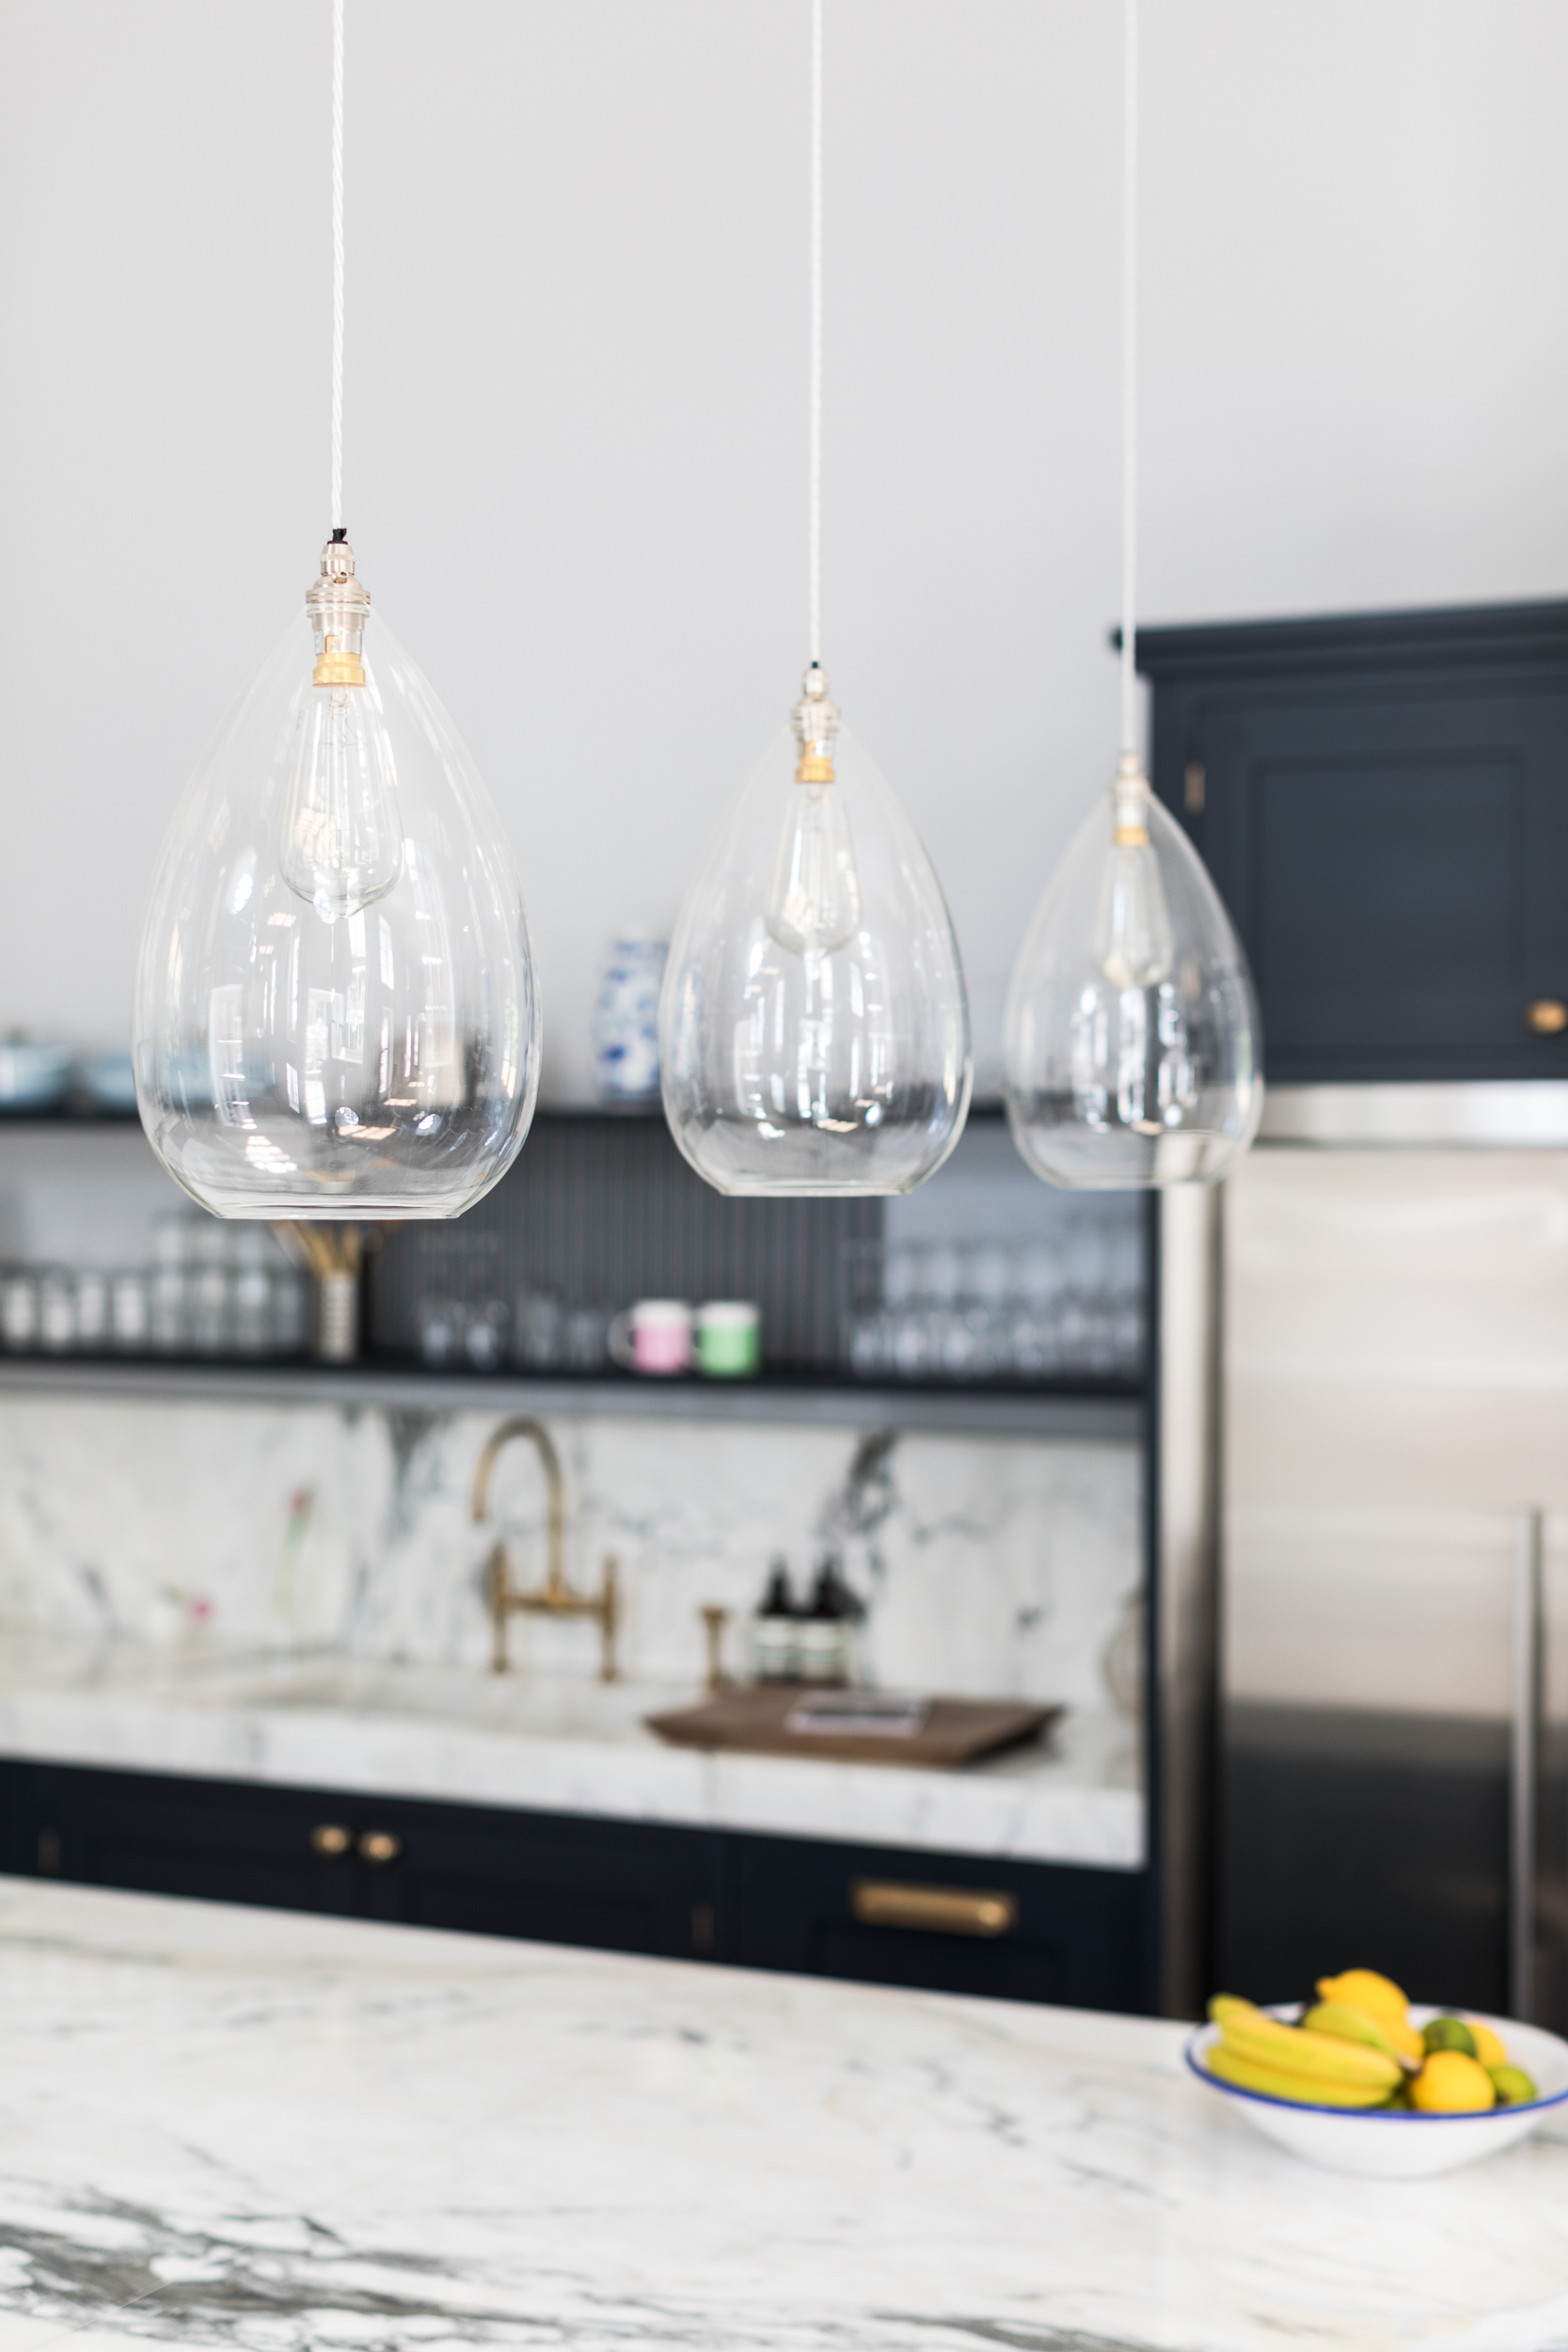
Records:
M811 663L682 906L670 1134L719 1192L910 1192L969 1112L969 997L919 837L820 661L823 0L811 7Z

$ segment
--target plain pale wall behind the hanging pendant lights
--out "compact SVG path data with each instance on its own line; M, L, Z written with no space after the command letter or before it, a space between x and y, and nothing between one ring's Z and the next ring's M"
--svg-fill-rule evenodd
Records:
M1114 0L827 0L835 691L983 1042L1114 750ZM0 5L0 1025L327 529L327 0ZM350 0L348 522L510 828L548 1087L804 663L804 0ZM1568 9L1145 0L1152 619L1568 588ZM689 713L703 713L701 727Z

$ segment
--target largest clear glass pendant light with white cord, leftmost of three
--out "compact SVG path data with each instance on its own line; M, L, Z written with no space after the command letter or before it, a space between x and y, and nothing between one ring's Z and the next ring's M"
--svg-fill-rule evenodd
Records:
M538 993L496 811L343 532L343 0L331 33L334 529L165 842L136 1101L219 1216L456 1216L529 1131Z

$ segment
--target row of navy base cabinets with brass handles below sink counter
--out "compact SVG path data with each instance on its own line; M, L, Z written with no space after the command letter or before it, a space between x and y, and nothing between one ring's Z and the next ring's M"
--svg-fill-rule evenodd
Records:
M1079 2009L1154 1999L1145 1872L0 1762L0 1867Z

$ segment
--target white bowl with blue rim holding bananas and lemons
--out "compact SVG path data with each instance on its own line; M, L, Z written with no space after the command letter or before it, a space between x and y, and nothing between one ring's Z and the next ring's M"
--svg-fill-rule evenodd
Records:
M1448 2013L1410 2004L1410 2025L1420 2027L1427 2018ZM1281 2006L1269 2009L1269 2016L1293 2023L1298 2011ZM1298 2105L1269 2098L1265 2091L1241 2091L1234 2082L1211 2074L1204 2060L1220 2039L1218 2025L1199 2025L1187 2042L1187 2065L1208 2091L1234 2100L1267 2140L1279 2140L1307 2164L1321 2164L1331 2173L1366 2173L1371 2180L1427 2180L1432 2173L1458 2173L1460 2164L1476 2164L1502 2147L1516 2147L1535 2131L1542 2114L1568 2098L1568 2042L1559 2042L1540 2025L1488 2018L1479 2009L1462 2016L1476 2016L1493 2027L1507 2044L1509 2065L1523 2067L1535 2082L1537 2098L1519 2107L1488 2107L1483 2114Z

